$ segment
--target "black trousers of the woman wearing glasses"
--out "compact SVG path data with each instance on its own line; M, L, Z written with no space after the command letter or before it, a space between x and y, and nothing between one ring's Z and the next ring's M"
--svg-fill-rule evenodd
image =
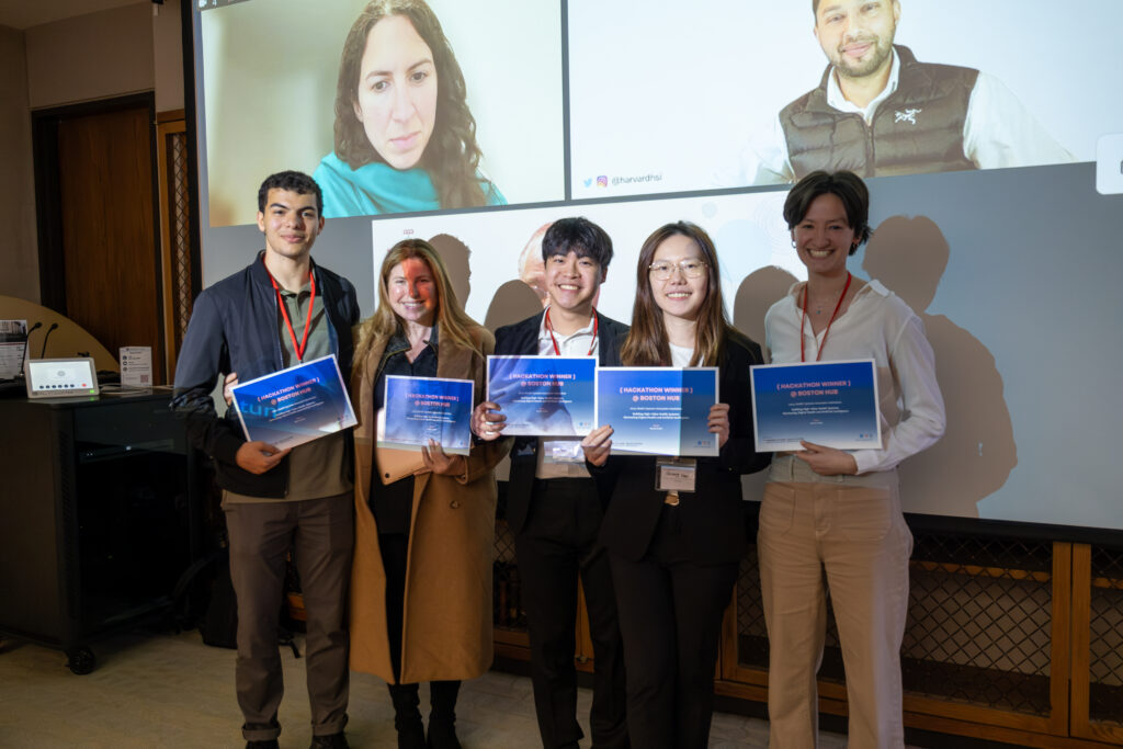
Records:
M628 667L628 730L643 749L705 749L710 740L721 619L740 565L691 558L678 510L669 505L639 561L610 558Z

